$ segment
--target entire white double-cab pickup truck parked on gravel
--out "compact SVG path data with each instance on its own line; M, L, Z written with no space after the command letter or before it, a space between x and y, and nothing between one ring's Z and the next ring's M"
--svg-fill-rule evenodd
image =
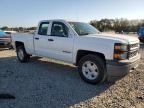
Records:
M102 34L83 22L44 20L34 34L14 34L12 45L22 63L32 55L62 60L78 66L91 84L120 78L140 60L137 37Z

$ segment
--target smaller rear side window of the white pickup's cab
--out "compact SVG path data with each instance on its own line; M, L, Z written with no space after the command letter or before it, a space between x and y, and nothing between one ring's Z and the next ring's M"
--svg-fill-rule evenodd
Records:
M39 26L38 34L39 35L47 35L49 22L42 22Z

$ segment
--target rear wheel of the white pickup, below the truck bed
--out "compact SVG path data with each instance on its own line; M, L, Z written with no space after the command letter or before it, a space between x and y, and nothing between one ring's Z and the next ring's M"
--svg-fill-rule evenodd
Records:
M30 55L26 53L24 46L17 47L16 53L17 58L21 63L25 63L30 60Z

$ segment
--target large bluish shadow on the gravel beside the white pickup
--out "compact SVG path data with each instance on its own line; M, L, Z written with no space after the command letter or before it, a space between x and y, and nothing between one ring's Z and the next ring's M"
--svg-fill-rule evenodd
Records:
M21 64L16 57L7 57L0 58L0 64L0 92L16 97L2 104L13 104L15 108L68 107L96 97L112 85L87 84L76 67L45 58L32 57L29 63Z

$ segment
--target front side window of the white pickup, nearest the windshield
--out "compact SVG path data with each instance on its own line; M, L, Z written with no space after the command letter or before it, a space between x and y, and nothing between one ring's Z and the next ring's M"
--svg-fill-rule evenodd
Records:
M68 37L68 28L62 22L53 22L51 35L58 37Z

